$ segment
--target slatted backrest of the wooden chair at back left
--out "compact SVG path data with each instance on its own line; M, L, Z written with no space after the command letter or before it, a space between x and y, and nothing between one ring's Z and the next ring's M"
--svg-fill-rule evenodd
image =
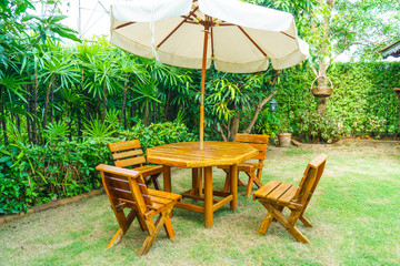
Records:
M146 163L139 140L110 143L108 147L114 165L118 167L143 166Z

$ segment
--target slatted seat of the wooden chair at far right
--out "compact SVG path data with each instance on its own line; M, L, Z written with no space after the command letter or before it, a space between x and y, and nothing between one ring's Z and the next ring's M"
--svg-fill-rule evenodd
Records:
M260 190L254 192L253 200L262 198L288 205L296 196L299 188L300 187L298 185L292 185L280 181L270 181Z

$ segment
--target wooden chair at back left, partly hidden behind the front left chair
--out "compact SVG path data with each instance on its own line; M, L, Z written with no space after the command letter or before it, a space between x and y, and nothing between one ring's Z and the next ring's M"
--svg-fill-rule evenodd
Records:
M139 140L110 143L108 147L116 166L132 167L142 174L146 185L153 183L156 190L161 190L158 177L162 173L162 165L144 165L146 158Z

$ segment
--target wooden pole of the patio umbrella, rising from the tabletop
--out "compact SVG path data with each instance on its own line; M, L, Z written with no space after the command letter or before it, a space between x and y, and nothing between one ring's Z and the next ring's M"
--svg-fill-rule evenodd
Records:
M209 17L206 17L206 21L209 21ZM208 48L208 34L209 24L204 25L204 45L203 58L201 66L201 96L200 96L200 150L204 149L204 88L206 88L206 63L207 63L207 48Z

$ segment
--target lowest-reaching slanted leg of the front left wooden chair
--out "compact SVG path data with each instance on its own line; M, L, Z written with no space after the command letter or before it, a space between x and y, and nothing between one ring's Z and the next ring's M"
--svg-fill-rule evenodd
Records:
M171 204L170 206L168 206L166 208L166 211L161 212L160 216L158 217L156 225L152 222L151 218L147 218L146 219L146 224L148 227L148 233L149 236L146 237L144 243L142 244L142 246L139 249L138 256L140 255L144 255L150 250L151 245L154 243L158 234L160 233L160 229L162 228L162 226L164 225L166 221L169 219L170 213L172 211L173 204ZM168 234L168 233L167 233Z

